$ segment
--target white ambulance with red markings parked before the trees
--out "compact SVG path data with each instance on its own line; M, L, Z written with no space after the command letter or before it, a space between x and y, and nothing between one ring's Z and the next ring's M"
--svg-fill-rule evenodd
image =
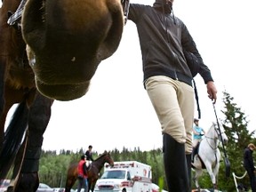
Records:
M151 192L151 166L137 161L105 164L104 172L95 184L95 192Z

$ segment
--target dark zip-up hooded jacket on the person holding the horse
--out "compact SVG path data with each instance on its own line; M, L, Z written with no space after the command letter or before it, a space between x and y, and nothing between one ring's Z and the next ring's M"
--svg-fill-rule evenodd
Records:
M168 76L192 86L192 73L183 50L200 61L198 73L205 84L213 81L185 24L172 12L172 2L156 0L153 6L130 4L128 19L137 27L142 54L143 82L150 76Z

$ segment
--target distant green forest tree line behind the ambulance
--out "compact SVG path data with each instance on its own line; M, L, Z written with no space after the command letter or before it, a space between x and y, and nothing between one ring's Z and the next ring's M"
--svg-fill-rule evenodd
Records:
M108 151L112 159L117 161L138 161L143 164L149 164L152 167L152 182L158 183L158 179L164 176L164 167L162 159L162 149L157 148L150 151L141 151L140 147L129 150L123 148L122 151L113 149ZM57 155L57 151L42 151L39 167L40 182L44 182L51 187L65 187L69 164L77 163L80 156L84 153L83 148L76 152L62 149ZM93 159L100 154L93 153ZM103 169L100 174L103 173ZM74 188L76 188L77 183Z

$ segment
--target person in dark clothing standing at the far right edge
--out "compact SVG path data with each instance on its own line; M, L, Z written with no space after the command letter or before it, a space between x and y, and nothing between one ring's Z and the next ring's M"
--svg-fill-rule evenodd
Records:
M255 167L253 163L252 153L255 150L254 144L250 143L247 148L244 149L244 169L249 175L252 192L256 192L256 180L255 180Z

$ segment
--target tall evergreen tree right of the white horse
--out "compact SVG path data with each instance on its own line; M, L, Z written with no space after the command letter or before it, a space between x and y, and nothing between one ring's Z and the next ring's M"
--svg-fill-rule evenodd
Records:
M247 130L248 121L246 116L233 100L234 98L231 97L228 92L223 92L224 109L222 113L226 116L223 121L223 127L228 136L226 150L230 162L230 172L234 172L237 176L242 176L245 172L243 167L244 148L252 142L254 131L249 132ZM220 150L221 149L222 148L220 148ZM236 191L233 176L230 175L227 179L224 171L224 164L221 164L218 179L219 186L222 186L222 188L227 191ZM246 186L249 186L248 177L245 177L243 180L238 180L237 182L242 182Z

